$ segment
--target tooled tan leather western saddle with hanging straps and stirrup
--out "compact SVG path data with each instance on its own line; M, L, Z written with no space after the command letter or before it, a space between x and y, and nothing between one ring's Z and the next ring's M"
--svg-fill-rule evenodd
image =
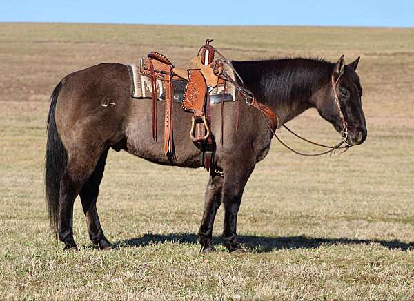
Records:
M201 46L197 57L192 59L186 68L176 68L171 61L159 52L150 52L141 60L138 73L149 77L152 85L152 136L157 140L157 80L164 81L165 90L165 121L164 121L164 153L170 160L175 158L175 147L172 127L172 105L174 103L173 82L186 81L181 107L186 112L193 113L191 117L190 138L203 152L202 165L214 176L219 171L215 167L215 137L210 130L210 92L215 87L222 87L221 94L221 143L223 143L223 103L226 93L226 84L230 82L237 89L237 98L240 107L244 98L248 105L253 105L266 115L273 128L276 128L276 115L266 105L255 101L253 94L243 86L243 81L237 71L213 45L213 39L207 39ZM233 70L238 81L225 71L224 65ZM239 84L240 83L240 84ZM233 99L236 101L236 99ZM237 112L236 130L239 125L239 112Z

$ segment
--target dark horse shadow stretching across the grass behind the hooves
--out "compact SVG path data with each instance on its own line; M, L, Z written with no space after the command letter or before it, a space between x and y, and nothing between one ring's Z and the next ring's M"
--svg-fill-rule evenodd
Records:
M267 236L237 236L246 249L257 253L267 253L278 249L315 249L322 245L353 245L371 243L380 244L388 249L406 251L414 248L414 242L406 243L399 240L364 240L357 238L310 238L306 236L267 237ZM221 238L213 237L215 245L221 243ZM178 242L197 244L198 236L192 233L152 234L147 233L140 238L121 240L115 243L115 249L122 247L144 247L150 244Z

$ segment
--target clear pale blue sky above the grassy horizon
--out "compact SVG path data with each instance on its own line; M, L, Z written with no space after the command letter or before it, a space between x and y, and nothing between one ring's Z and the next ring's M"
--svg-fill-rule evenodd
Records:
M414 0L2 0L0 21L414 27Z

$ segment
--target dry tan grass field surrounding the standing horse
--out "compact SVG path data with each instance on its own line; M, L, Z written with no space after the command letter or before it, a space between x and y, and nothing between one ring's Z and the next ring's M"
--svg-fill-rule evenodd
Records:
M150 50L183 63L206 37L233 59L362 56L367 141L322 158L273 141L239 211L243 256L220 245L221 209L219 252L199 253L206 172L110 151L98 210L116 249L92 247L77 201L80 251L62 251L43 200L52 89L72 71L131 63ZM412 300L413 45L414 29L0 23L0 299ZM290 125L317 141L337 139L313 111Z

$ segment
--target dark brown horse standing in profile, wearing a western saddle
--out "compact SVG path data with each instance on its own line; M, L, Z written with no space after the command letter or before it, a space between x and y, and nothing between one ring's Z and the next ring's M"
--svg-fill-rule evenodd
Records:
M331 78L339 79L336 92L348 127L347 143L366 139L362 111L362 87L355 70L359 58L345 65L315 59L233 61L244 84L261 103L277 115L282 126L309 108L316 108L335 129L342 130ZM52 227L65 249L77 249L72 233L75 198L81 197L90 240L100 249L111 246L103 235L97 213L99 184L108 149L126 150L153 163L201 167L202 154L188 137L191 114L175 105L175 160L163 152L163 141L151 135L150 99L130 96L132 81L126 65L103 63L69 74L55 87L48 114L45 185ZM111 105L103 106L102 103ZM158 102L158 128L163 131L164 105ZM241 251L237 242L237 212L244 187L256 163L268 154L272 132L259 110L240 103L239 127L235 130L237 101L224 103L223 144L217 143L217 168L223 176L210 176L204 215L199 228L203 251L214 251L212 230L215 214L224 205L224 244ZM219 135L220 105L212 105L213 134ZM159 133L162 137L163 132Z

